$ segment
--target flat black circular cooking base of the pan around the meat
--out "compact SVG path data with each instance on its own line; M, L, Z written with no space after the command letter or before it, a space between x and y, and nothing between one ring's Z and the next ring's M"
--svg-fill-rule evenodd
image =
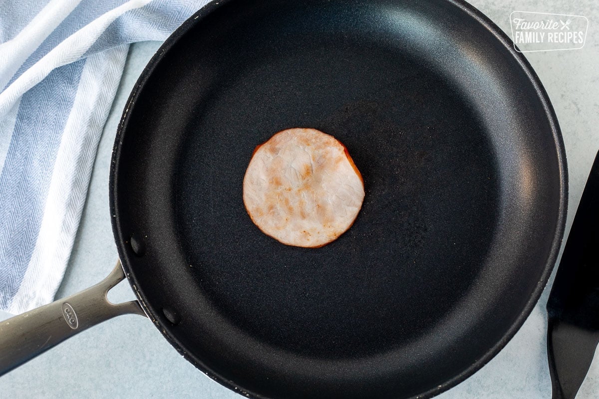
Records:
M498 170L440 78L372 43L335 44L248 57L219 81L187 126L174 207L191 273L233 324L344 358L405 344L464 297L497 224ZM355 224L322 248L282 245L243 205L253 148L295 126L343 142L365 182Z

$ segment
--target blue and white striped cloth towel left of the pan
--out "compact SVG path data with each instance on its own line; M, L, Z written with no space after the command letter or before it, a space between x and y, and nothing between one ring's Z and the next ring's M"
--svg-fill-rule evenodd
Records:
M0 0L0 309L49 303L129 44L207 0Z

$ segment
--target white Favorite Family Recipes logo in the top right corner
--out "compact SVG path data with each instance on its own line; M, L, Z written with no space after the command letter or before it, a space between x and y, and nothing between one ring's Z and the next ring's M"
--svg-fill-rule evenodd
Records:
M577 50L585 45L589 20L577 15L514 11L510 25L514 48L521 53Z

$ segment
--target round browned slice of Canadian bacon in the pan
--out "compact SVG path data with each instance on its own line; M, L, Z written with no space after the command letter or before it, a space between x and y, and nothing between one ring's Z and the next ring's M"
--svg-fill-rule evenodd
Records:
M288 129L256 147L243 202L262 232L286 245L316 248L349 229L364 181L347 148L316 129Z

